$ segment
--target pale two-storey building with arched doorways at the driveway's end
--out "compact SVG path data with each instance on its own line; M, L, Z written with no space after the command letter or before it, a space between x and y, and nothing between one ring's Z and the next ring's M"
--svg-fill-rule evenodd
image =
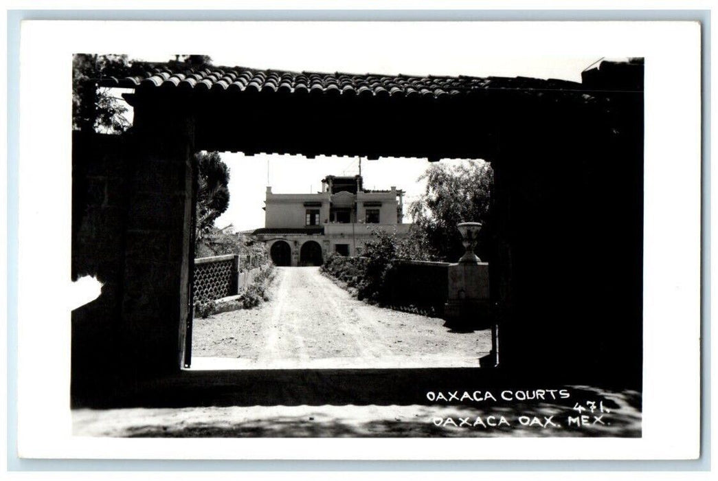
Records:
M322 179L314 194L267 187L264 228L254 231L277 266L319 266L330 253L359 256L373 230L406 235L404 191L366 190L361 175Z

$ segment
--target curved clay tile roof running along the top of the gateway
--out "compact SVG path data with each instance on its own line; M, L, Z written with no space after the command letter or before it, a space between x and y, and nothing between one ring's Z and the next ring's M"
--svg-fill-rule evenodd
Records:
M133 72L142 72L137 62ZM183 88L190 90L225 90L235 92L262 92L312 95L347 95L360 97L422 97L454 98L466 93L486 89L577 89L580 83L566 80L540 80L533 78L475 78L437 77L408 75L357 75L351 73L285 72L281 70L256 70L246 67L215 67L205 65L187 70L186 66L168 63L151 68L144 67L144 74L124 78L106 77L98 83L106 87L163 90Z

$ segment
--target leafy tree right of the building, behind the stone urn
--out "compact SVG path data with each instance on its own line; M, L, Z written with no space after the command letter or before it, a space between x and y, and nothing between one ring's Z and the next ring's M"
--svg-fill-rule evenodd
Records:
M426 179L426 190L409 205L413 250L420 246L429 258L455 262L464 253L456 225L488 219L493 170L483 161L432 164L419 179Z

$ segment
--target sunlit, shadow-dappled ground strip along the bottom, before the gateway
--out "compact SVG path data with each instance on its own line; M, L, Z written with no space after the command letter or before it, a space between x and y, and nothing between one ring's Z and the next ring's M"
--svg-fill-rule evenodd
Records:
M113 437L640 437L640 394L564 386L558 399L503 401L502 391L442 391L432 405L202 406L73 410L76 436ZM536 390L530 390L535 393ZM439 396L438 392L433 393ZM429 395L431 396L431 395ZM514 398L516 391L504 392ZM544 393L544 398L551 397ZM451 399L451 401L448 401ZM502 417L503 416L503 417ZM569 419L570 418L570 419ZM502 420L503 419L503 420Z

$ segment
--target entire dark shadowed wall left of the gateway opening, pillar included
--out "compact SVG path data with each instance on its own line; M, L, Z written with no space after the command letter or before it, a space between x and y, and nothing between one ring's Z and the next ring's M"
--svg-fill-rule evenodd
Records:
M177 373L187 348L195 192L192 119L136 110L121 136L73 135L72 276L101 296L72 314L73 401L114 379ZM101 388L106 393L99 393Z

